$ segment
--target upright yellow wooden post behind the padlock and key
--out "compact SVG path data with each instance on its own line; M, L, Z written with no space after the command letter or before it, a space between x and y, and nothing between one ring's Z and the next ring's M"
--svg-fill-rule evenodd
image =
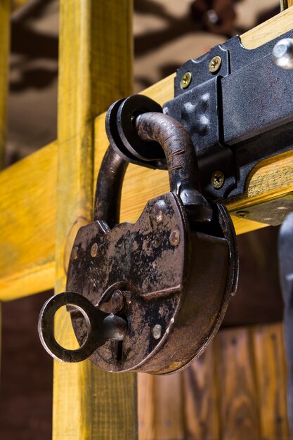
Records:
M93 118L131 92L131 2L60 1L56 292L78 226L91 221ZM67 312L56 337L72 343ZM89 361L54 363L53 439L136 439L136 375L111 375Z

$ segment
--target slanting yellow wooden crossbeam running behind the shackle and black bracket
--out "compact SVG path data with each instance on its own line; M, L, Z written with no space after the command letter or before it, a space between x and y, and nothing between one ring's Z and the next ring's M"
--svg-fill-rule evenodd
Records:
M254 48L278 37L278 35L292 29L292 18L293 11L289 8L243 34L241 37L242 44L247 48ZM113 41L105 41L105 38L108 37L108 32L105 32L105 36L100 37L99 44L100 47L107 44L109 53L113 53L115 44L121 45L125 40L125 36L123 39L118 38L114 44ZM121 46L119 47L121 48ZM121 65L121 72L117 70L117 65ZM114 67L108 63L107 72L107 78L101 75L95 77L96 91L93 91L93 95L97 96L98 89L105 93L104 96L106 96L106 93L111 92L112 96L110 98L114 101L117 98L114 93L116 89L113 86L115 75L121 73L123 81L128 80L131 82L131 72L126 69L126 62L123 57L119 58L119 64ZM143 93L155 98L160 103L164 103L173 96L173 78L174 75L171 75ZM129 92L126 89L121 89L120 94L127 96ZM107 105L105 101L103 110ZM95 172L93 184L107 145L104 116L101 115L95 122ZM70 154L70 157L73 157L73 151ZM0 300L30 295L39 292L42 286L44 286L43 288L53 287L55 233L52 232L54 228L52 225L56 221L55 196L53 196L56 191L56 157L53 157L54 155L56 155L56 148L50 145L41 150L41 153L37 152L31 157L27 157L25 162L22 161L20 164L7 169L4 172L5 174L0 174L0 187L6 188L0 195ZM41 162L39 162L40 157ZM286 195L293 190L292 169L293 155L291 152L275 156L271 160L259 164L252 172L245 195L229 201L228 208L230 210L243 209L270 198ZM28 179L28 176L30 176L30 179ZM15 179L17 179L16 182L14 182ZM138 181L141 182L141 186L137 186ZM166 190L168 190L168 184L164 172L152 172L148 169L130 166L126 173L123 191L122 218L134 221L148 198L164 193ZM22 202L22 200L25 200L25 202ZM233 218L233 221L235 221L237 233L244 233L266 226L247 219L238 219L237 217ZM48 225L48 232L45 230L46 224ZM22 230L24 231L23 237ZM15 238L12 238L13 234L15 234ZM40 243L43 243L44 249L42 249Z

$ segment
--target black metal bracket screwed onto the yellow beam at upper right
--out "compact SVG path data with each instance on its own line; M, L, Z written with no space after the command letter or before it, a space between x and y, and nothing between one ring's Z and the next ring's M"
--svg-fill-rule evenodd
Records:
M290 37L248 50L236 36L177 70L163 112L190 134L207 198L241 195L258 162L292 149L293 70L273 60L275 45Z

